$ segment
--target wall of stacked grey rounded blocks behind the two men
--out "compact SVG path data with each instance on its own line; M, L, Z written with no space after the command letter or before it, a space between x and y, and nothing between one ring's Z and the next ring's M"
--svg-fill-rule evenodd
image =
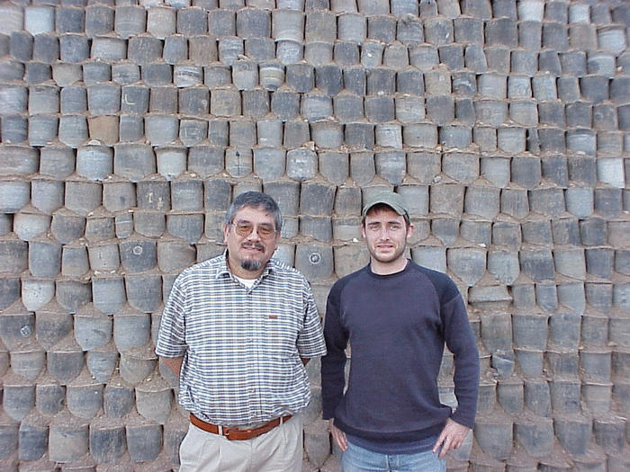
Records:
M230 200L278 200L323 316L388 188L480 347L448 467L628 470L629 25L622 1L4 1L0 468L176 468L157 326ZM304 470L334 471L318 371Z

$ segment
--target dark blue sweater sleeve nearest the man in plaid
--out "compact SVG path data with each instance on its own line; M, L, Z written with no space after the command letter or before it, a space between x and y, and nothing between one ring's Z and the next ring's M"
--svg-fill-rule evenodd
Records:
M330 290L324 319L324 339L328 353L321 358L321 397L325 420L335 416L335 408L346 386L347 331L341 324L340 292L338 284Z

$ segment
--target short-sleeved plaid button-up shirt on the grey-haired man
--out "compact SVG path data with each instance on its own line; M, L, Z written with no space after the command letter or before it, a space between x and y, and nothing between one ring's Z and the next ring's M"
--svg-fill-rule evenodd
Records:
M166 302L157 355L184 357L179 403L210 423L243 425L309 404L302 358L326 353L308 282L271 259L247 289L226 254L184 270Z

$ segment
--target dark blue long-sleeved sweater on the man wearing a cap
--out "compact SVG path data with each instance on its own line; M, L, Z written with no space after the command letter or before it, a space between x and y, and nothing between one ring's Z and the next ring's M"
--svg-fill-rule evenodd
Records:
M330 289L324 335L323 417L334 417L340 430L371 441L419 441L449 417L473 427L479 355L464 301L446 274L410 261L391 275L369 265L347 275ZM455 355L455 412L437 393L445 343Z

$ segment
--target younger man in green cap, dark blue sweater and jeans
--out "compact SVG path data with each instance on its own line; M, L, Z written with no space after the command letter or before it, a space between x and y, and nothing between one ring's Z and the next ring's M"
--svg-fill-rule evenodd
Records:
M413 225L400 195L369 200L361 230L370 263L335 283L326 308L324 418L344 472L444 471L477 406L479 359L464 302L446 274L405 256ZM455 411L437 390L445 343L455 354Z

